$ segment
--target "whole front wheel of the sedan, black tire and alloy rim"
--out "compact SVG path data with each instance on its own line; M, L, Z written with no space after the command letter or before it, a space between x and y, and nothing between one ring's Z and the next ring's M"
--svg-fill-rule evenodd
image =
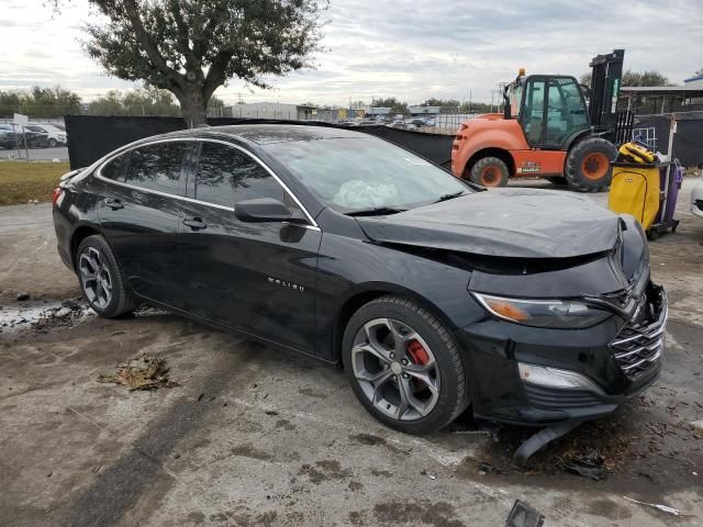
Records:
M359 309L344 332L342 356L359 402L397 430L439 430L469 404L450 332L410 300L382 296Z

